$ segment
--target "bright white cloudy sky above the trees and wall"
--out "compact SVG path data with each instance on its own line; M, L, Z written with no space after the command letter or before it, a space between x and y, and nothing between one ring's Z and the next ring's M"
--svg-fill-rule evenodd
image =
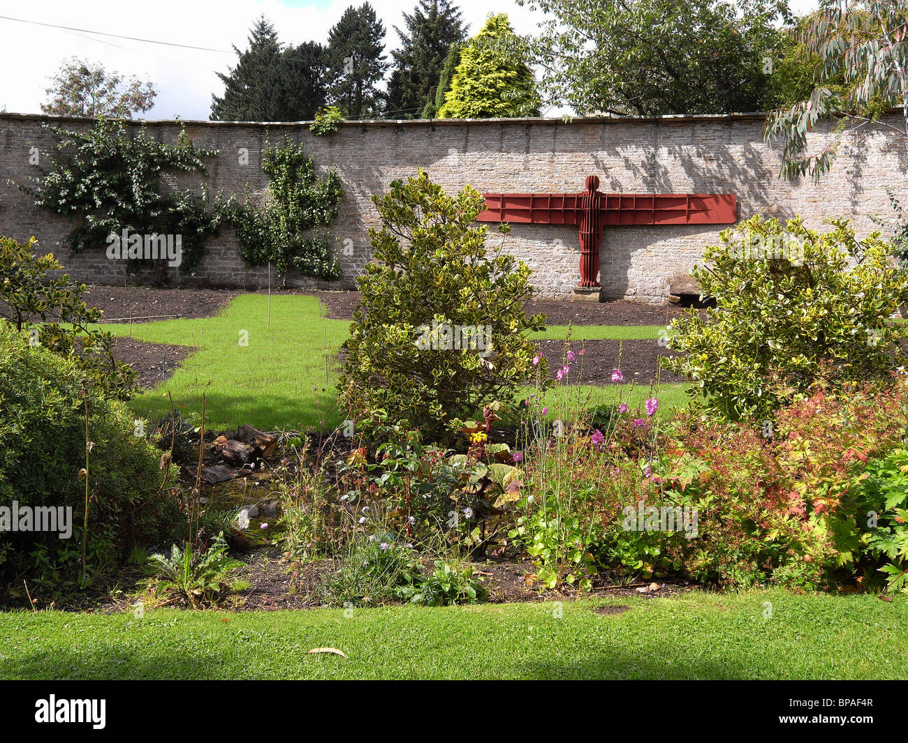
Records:
M151 80L158 97L145 116L149 119L207 119L212 93L222 92L215 71L235 64L232 44L246 46L252 22L264 14L280 35L281 42L324 42L328 29L348 5L361 0L31 0L5 3L0 16L39 24L70 26L84 31L132 36L171 44L203 46L202 51L180 46L145 44L66 31L33 23L0 18L0 111L41 111L49 78L64 59L77 56L101 62L108 70ZM396 48L398 36L392 26L401 25L401 13L410 12L415 0L371 0L388 29L386 51ZM507 13L518 33L535 30L538 15L514 0L460 0L457 4L476 34L490 11ZM793 0L798 14L811 10L815 0ZM549 114L553 112L548 112Z

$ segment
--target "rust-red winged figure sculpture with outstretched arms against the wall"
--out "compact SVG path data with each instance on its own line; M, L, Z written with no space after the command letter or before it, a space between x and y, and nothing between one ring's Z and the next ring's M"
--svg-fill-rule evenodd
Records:
M731 224L737 220L733 193L602 193L587 176L583 193L486 193L483 222L574 224L580 230L581 287L597 287L599 243L609 225Z

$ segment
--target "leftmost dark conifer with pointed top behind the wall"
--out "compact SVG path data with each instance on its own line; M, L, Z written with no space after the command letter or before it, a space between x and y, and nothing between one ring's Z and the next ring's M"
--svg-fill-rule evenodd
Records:
M281 44L274 26L262 15L250 29L249 48L233 51L239 57L230 73L217 73L224 83L222 96L212 94L212 121L257 122L267 119L262 115L269 97L268 82L272 66L281 55Z

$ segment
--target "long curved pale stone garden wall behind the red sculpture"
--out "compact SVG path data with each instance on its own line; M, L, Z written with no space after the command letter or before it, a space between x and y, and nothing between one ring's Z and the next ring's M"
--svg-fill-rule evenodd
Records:
M66 220L35 207L8 181L27 182L37 174L30 164L32 147L51 149L54 134L41 127L54 119L65 127L84 127L81 119L0 114L0 234L54 251L69 273L86 283L127 281L122 261L106 259L104 246L67 255L60 245ZM262 148L287 132L306 143L320 168L340 174L345 198L332 228L341 259L341 279L325 282L291 276L298 288L354 288L370 258L367 230L377 224L372 194L388 183L429 171L449 192L469 183L479 191L583 191L588 173L596 173L600 191L735 193L738 217L755 212L780 219L801 214L810 226L825 217L853 217L861 234L873 230L870 216L890 216L886 187L908 200L905 139L883 129L851 135L819 186L802 179L778 179L780 148L766 145L757 114L685 116L658 119L522 119L435 122L346 122L338 132L316 137L305 123L185 122L196 145L214 148L209 161L212 191L240 193L246 184L262 191L267 179L260 170ZM898 123L893 118L893 123ZM176 140L179 125L148 122L153 136ZM827 130L811 137L812 149L829 141ZM248 163L242 152L248 151ZM179 182L178 182L179 181ZM198 177L173 179L172 185L194 187ZM664 302L673 277L686 274L704 246L715 242L722 226L607 228L602 241L603 298ZM496 244L500 236L494 232ZM345 250L346 248L346 250ZM505 248L534 269L533 282L545 297L569 297L579 277L577 229L563 226L514 225ZM267 272L243 265L232 230L209 243L194 275L170 269L172 283L262 288ZM131 283L134 279L128 279Z

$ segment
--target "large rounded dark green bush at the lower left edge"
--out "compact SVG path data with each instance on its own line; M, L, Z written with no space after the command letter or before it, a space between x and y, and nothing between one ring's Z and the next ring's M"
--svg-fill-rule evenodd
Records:
M59 590L81 566L85 516L85 403L88 406L87 562L97 570L148 543L185 530L164 490L176 467L136 435L135 416L103 391L83 387L73 358L58 357L0 322L0 506L73 509L73 533L15 532L0 537L0 570L29 585ZM163 469L163 471L162 471ZM21 586L18 586L21 588Z

